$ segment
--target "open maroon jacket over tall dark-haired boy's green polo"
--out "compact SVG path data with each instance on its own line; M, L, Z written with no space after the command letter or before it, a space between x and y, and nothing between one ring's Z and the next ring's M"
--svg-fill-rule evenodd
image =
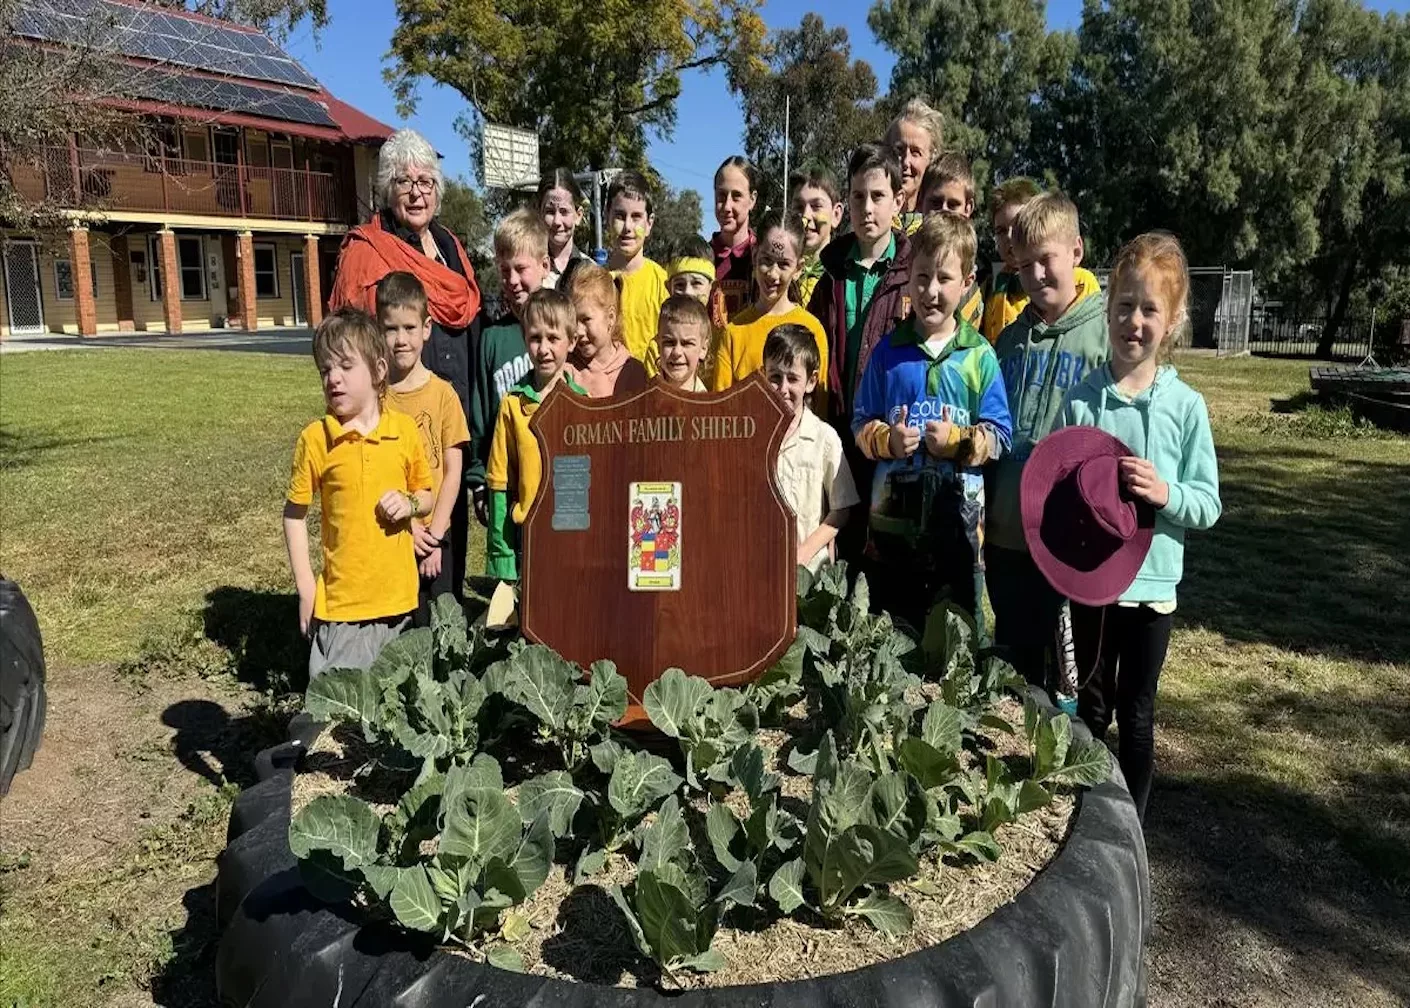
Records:
M852 245L856 241L853 234L843 234L822 250L818 257L822 262L822 276L808 302L808 310L822 323L822 330L828 334L828 414L838 430L849 431L843 436L843 444L850 443L852 402L856 398L857 386L862 383L862 372L866 371L867 358L871 348L877 345L883 336L895 328L897 323L911 314L911 296L907 293L907 281L911 272L911 240L900 231L895 235L895 257L881 282L877 283L871 296L871 306L862 321L862 347L857 351L857 374L850 389L842 388L842 371L847 362L847 261L852 258Z

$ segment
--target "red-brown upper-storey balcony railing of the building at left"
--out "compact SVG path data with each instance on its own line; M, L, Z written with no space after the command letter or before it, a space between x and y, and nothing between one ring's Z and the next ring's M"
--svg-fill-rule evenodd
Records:
M341 180L306 168L56 147L38 166L17 166L16 182L31 199L72 209L357 223Z

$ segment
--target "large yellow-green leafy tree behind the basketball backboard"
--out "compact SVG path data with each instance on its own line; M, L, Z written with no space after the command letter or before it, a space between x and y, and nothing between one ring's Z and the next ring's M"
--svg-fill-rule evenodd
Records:
M539 133L540 164L642 168L647 130L675 125L681 73L753 72L760 0L398 0L392 85L402 114L422 78L454 87L477 121Z

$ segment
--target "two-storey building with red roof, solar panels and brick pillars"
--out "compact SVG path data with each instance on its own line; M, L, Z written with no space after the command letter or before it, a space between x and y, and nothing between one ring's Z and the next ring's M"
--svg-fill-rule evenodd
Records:
M128 0L21 0L14 34L63 45L111 28L109 99L137 140L85 137L13 169L68 234L0 227L0 336L313 326L338 242L372 207L392 133L254 28Z

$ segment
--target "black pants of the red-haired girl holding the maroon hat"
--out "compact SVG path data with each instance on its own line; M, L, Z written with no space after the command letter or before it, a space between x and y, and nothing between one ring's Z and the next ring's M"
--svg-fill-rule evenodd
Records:
M1098 609L1072 603L1077 657L1077 713L1103 739L1115 715L1121 729L1118 763L1145 822L1155 774L1155 691L1170 644L1170 613L1145 606Z

